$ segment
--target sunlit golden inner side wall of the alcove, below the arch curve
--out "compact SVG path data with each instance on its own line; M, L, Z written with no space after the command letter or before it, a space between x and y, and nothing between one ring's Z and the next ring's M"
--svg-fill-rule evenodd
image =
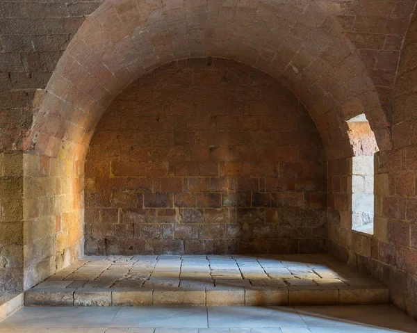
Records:
M83 162L24 154L24 289L79 257Z

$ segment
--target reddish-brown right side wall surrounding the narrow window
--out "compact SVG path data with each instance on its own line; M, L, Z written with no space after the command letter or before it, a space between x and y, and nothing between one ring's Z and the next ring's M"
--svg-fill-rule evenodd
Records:
M347 190L350 159L329 162L329 250L384 282L390 288L393 304L414 318L417 318L416 50L414 16L393 91L393 149L375 154L374 236L350 230Z

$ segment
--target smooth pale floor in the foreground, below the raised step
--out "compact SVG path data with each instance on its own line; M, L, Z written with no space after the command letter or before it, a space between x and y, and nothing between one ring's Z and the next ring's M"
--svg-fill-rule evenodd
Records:
M182 327L182 328L181 328ZM391 305L336 307L25 307L0 333L417 332Z

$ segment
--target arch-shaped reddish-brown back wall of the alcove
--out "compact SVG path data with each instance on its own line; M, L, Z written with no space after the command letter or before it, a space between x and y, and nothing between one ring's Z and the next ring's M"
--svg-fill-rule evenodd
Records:
M326 184L291 92L231 60L181 60L131 83L97 125L85 252L325 252Z

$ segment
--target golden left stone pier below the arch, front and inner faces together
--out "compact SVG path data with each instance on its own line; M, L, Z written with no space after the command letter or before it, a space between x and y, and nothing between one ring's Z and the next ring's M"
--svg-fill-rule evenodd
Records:
M72 263L83 244L83 163L0 154L0 290L24 290Z

